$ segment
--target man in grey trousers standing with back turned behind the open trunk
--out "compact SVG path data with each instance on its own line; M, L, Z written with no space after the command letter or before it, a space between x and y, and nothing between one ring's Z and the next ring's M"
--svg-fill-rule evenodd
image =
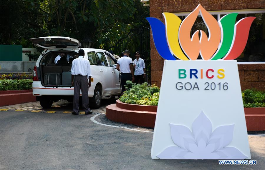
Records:
M80 89L82 90L82 103L85 109L85 114L92 114L92 110L88 106L88 88L91 86L91 69L90 62L84 58L85 51L78 51L79 57L73 60L72 63L72 86L74 86L74 101L72 114L79 114L79 96Z

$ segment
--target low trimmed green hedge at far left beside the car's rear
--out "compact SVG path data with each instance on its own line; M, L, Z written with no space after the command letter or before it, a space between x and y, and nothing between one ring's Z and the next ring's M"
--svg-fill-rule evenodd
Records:
M0 80L0 91L2 90L29 90L29 89L32 89L32 80L30 79Z

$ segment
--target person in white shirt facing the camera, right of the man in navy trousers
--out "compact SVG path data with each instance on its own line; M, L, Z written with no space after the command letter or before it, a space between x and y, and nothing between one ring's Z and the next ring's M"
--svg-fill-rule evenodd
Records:
M140 58L140 52L137 51L135 54L136 59L133 60L133 65L132 67L135 69L134 70L134 78L135 78L135 83L138 84L140 81L140 84L144 82L144 75L145 75L145 61Z

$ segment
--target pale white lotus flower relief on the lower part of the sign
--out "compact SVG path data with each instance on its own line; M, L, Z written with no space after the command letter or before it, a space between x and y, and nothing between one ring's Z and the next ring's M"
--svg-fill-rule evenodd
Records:
M191 130L183 125L170 124L170 146L157 155L160 159L246 159L235 147L226 147L233 139L234 124L219 126L212 132L212 123L201 112Z

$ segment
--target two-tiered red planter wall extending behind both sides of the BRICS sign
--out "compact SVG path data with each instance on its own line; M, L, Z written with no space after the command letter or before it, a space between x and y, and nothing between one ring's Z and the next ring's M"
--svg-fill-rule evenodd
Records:
M108 119L134 124L142 127L155 127L157 106L145 106L138 104L122 103L120 100L116 104L106 107L106 116ZM246 117L246 126L248 131L265 130L265 108L244 108Z

